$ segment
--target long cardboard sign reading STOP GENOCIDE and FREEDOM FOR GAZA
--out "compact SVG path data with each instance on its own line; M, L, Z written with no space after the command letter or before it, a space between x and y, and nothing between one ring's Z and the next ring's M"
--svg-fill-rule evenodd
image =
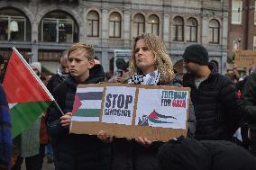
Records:
M78 85L70 133L168 141L187 135L190 88Z

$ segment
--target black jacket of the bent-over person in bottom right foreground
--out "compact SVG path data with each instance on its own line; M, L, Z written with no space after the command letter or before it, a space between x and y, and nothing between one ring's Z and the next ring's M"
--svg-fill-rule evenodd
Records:
M256 158L229 141L179 138L160 148L158 163L159 170L253 170Z

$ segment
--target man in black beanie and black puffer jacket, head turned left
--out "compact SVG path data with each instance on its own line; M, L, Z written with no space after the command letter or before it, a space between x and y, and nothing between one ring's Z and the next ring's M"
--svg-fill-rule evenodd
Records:
M183 85L191 88L197 128L195 139L234 140L239 128L242 104L237 100L230 79L212 72L208 67L208 52L199 44L188 46L183 54L187 73Z

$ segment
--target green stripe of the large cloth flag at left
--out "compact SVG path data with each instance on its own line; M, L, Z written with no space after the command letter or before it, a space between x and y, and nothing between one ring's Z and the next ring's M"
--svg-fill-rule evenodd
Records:
M24 130L28 130L32 123L39 119L41 113L49 107L51 102L17 103L14 105L11 109L13 139Z

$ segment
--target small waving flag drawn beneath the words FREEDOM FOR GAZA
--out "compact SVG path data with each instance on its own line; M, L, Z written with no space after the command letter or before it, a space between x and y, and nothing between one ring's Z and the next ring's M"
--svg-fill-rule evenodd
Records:
M153 110L149 115L148 115L149 121L153 123L173 123L170 119L175 119L173 116L166 116L162 115L155 110Z

